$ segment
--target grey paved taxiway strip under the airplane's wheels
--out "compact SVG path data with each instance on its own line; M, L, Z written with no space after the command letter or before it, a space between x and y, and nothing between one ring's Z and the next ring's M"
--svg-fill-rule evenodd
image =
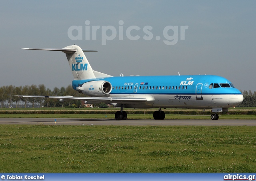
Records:
M0 118L0 124L44 124L44 125L203 125L203 126L256 126L255 119L55 119L53 118Z

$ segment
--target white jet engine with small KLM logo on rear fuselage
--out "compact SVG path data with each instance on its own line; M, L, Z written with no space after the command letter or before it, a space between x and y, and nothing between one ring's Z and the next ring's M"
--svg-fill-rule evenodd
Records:
M97 80L92 82L86 82L82 85L82 93L91 96L107 95L112 90L110 82L104 80Z

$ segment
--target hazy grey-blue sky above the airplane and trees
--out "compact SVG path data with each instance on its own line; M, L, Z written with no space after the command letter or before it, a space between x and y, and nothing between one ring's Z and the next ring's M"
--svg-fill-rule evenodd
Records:
M218 75L254 92L255 17L254 0L1 1L0 86L66 88L64 53L22 48L76 44L112 76Z

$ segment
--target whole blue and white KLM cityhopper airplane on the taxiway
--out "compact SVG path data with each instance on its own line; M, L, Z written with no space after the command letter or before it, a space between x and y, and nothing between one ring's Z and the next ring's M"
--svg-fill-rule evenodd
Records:
M16 95L20 97L55 98L60 101L83 100L85 103L105 102L114 107L116 120L126 120L127 108L158 108L154 119L164 119L165 108L212 109L212 120L219 112L242 103L244 97L226 78L214 75L122 76L113 77L97 72L90 66L77 45L62 49L23 48L25 50L60 51L66 54L74 80L72 88L90 97Z

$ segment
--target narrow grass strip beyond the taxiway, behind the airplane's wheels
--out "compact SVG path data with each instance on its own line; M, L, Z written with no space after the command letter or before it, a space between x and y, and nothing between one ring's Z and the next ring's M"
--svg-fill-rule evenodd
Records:
M115 119L114 114L0 114L0 118ZM219 119L256 119L256 115L219 115ZM153 119L152 114L128 114L128 119ZM165 119L210 119L210 115L166 114Z

